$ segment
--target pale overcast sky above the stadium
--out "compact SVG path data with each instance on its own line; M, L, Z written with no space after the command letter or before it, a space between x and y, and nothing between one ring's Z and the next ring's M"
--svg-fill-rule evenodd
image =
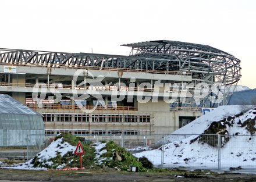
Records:
M0 1L0 47L128 55L120 44L174 40L241 60L256 88L256 1Z

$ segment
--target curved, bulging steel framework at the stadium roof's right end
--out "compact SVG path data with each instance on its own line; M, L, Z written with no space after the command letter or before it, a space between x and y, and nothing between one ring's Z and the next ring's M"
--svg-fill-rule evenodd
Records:
M222 83L222 90L225 94L223 104L229 102L227 98L230 98L233 92L230 90L232 87L227 85L236 85L241 77L240 60L230 53L209 45L159 40L123 46L131 47L130 56L147 59L158 58L160 61L161 59L171 60L168 64L162 62L160 65L169 67L169 69L176 67L176 70L190 71L195 84L203 81L209 85L215 82ZM201 106L207 103L209 97L201 102Z

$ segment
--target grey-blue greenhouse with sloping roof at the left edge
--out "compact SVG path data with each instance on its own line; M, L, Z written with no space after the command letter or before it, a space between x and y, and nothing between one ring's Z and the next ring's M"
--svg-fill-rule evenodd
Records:
M0 94L0 147L38 142L44 142L42 116L9 95Z

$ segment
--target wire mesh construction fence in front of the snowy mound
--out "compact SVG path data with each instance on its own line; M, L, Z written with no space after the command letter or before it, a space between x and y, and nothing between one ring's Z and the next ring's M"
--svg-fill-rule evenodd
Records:
M146 156L156 167L237 170L256 172L256 135L221 134L87 134L84 141L114 141L137 157ZM28 135L27 158L47 147L54 137L42 141Z

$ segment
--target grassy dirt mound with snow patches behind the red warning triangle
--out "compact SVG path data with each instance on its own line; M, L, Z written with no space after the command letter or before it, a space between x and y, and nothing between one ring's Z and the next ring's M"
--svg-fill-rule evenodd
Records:
M77 143L81 141L86 154L82 155L83 167L110 167L118 170L129 170L130 166L139 167L140 172L147 171L135 156L113 141L92 144L70 133L58 135L55 140L33 159L16 165L15 169L77 169L80 167L80 156L74 155ZM145 160L144 160L145 161Z

